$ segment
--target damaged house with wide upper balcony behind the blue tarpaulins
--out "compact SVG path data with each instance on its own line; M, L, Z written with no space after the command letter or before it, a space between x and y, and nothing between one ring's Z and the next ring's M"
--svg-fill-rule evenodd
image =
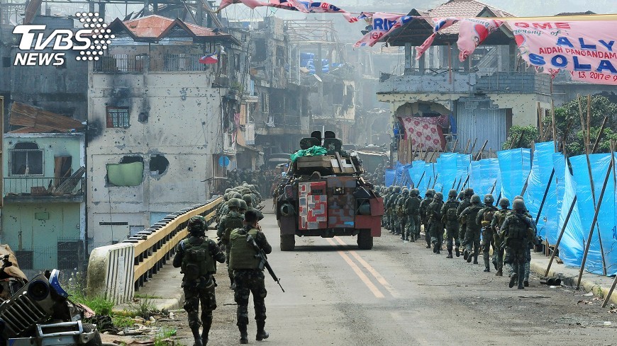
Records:
M389 44L405 47L403 75L384 75L377 99L390 103L394 121L401 117L452 115L458 149L469 140L484 142L499 150L512 125L536 125L538 115L550 113L550 75L537 74L518 58L512 33L501 27L489 35L475 52L460 62L458 24L440 30L435 42L416 60L416 47L433 33L432 17L512 16L478 1L448 1L429 11L413 9L410 16L423 16L392 33ZM443 132L448 133L448 127Z

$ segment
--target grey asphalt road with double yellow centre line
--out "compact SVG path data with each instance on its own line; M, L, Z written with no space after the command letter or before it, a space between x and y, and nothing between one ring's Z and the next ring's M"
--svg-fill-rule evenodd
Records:
M274 214L260 224L286 291L266 273L264 345L617 345L617 313L573 289L537 277L509 289L482 264L435 255L424 241L404 243L386 230L372 250L335 237L296 238L295 251L281 252ZM225 270L217 277L209 345L237 344L233 292ZM188 333L180 327L179 341L192 345ZM249 337L259 343L252 317Z

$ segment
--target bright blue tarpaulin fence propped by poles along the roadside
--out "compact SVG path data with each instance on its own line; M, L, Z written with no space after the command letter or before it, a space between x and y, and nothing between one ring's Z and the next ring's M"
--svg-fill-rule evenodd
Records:
M617 154L615 155L617 157ZM572 156L565 160L562 154L555 153L553 142L535 144L533 160L530 149L511 149L498 151L497 158L485 158L480 161L472 161L471 156L466 154L444 153L439 156L436 163L424 161L413 161L406 165L397 163L393 169L386 171L386 185L394 183L413 185L423 195L427 188L433 187L437 178L435 190L447 194L452 186L459 191L462 190L463 183L469 175L466 187L473 188L481 197L490 193L495 185L493 191L495 200L501 196L512 201L516 195L521 195L523 186L527 183L523 195L526 207L532 217L538 219L538 235L551 245L557 242L572 200L577 197L559 250L560 258L566 265L580 267L596 205L599 203L602 185L611 163L611 154L592 154L589 156L589 161L594 180L595 202L591 194L586 156ZM609 174L585 269L595 274L602 274L604 267L602 251L604 251L606 273L616 275L617 194L614 170ZM543 199L545 201L538 217Z

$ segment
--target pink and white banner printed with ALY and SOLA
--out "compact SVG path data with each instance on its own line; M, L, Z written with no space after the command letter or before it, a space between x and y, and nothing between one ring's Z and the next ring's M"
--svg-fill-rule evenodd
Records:
M617 85L617 21L506 20L521 57L575 81Z

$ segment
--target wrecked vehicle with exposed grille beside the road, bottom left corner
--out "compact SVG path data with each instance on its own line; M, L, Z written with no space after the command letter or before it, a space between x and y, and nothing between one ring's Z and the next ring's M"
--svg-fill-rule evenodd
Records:
M9 246L0 246L0 345L102 345L96 326L82 323L84 308L60 286L58 270L30 281Z

